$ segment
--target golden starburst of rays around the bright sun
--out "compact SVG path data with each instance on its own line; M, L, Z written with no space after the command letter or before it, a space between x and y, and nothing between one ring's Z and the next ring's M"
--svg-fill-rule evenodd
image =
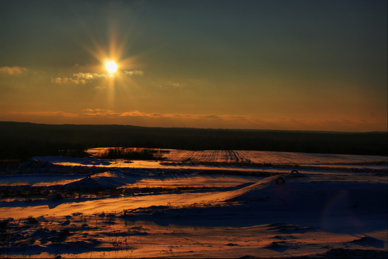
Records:
M131 89L139 89L135 78L142 76L144 71L137 64L141 53L130 53L130 31L119 30L118 23L109 24L107 37L97 37L89 26L80 22L89 38L89 43L78 42L89 53L95 62L84 66L88 73L97 74L98 80L94 81L95 94L93 102L96 106L105 104L106 108L115 109L117 98L128 97L131 99ZM80 61L80 63L82 63ZM92 83L92 82L91 82Z

